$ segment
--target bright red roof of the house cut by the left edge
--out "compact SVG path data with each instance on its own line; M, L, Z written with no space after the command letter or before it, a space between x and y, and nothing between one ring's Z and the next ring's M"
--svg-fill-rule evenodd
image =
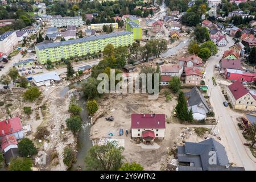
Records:
M0 121L0 137L16 133L22 130L22 123L19 117L10 118L7 120Z

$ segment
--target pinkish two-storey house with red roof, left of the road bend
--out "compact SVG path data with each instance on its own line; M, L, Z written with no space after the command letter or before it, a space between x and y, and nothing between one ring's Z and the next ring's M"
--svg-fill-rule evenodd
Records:
M200 85L203 73L199 68L188 67L185 68L185 84Z

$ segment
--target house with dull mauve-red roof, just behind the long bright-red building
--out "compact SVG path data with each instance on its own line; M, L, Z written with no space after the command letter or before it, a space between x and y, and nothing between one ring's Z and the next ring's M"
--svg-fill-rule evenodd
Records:
M242 70L241 59L221 59L219 72L224 73L226 69Z

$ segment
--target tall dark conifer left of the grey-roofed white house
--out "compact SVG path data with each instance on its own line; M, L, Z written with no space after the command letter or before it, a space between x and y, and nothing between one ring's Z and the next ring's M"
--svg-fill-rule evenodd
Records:
M177 118L179 118L181 121L187 121L188 107L187 107L187 101L185 100L185 96L183 92L179 92L178 102L175 107L175 112L177 113Z

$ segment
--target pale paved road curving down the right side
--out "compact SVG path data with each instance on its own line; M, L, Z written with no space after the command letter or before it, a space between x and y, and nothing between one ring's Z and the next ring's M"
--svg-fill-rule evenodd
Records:
M233 40L228 37L228 45L220 48L221 51L218 52L219 57L212 56L210 57L208 63L206 64L205 71L207 72L206 82L209 85L210 90L210 102L213 106L216 119L219 123L215 130L220 131L220 135L225 136L226 144L228 148L226 152L228 153L229 158L232 158L234 163L237 166L243 166L246 170L256 170L255 158L251 155L250 151L243 145L244 139L241 136L241 131L237 130L236 126L236 117L239 115L229 107L224 107L222 102L225 100L221 90L218 86L213 86L212 76L214 70L214 64L217 64L220 61L222 54L230 46L234 44ZM208 81L208 79L210 81Z

